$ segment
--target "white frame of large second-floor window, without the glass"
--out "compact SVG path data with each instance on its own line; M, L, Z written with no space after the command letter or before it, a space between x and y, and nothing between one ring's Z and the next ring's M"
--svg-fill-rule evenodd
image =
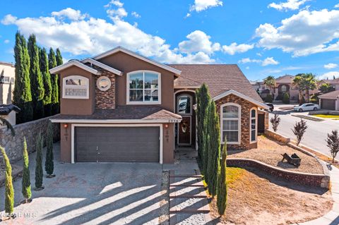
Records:
M143 102L136 102L136 101L129 101L129 78L130 75L133 75L134 73L143 73L143 78L145 77L145 73L154 73L157 74L157 101L148 101L145 102L145 79L143 79ZM156 71L133 71L127 73L126 76L126 104L161 104L161 73L158 73Z

